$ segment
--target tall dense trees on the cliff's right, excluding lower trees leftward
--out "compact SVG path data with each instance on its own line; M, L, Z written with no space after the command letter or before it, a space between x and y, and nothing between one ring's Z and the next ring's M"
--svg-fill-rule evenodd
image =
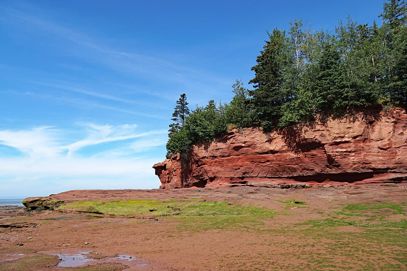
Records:
M339 22L336 35L290 23L275 29L252 67L254 111L272 128L343 114L389 99L407 102L405 1L389 0L382 27Z

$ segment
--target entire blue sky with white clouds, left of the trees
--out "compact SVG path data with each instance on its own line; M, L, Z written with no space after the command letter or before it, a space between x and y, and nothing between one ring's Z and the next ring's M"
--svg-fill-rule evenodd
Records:
M2 0L0 197L158 188L182 93L228 102L267 29L380 23L383 3Z

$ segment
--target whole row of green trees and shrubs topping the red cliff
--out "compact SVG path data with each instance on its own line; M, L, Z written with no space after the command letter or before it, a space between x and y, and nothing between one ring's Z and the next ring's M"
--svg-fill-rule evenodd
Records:
M356 107L405 106L406 12L404 0L388 0L379 16L381 26L348 17L331 34L295 19L288 32L268 32L269 40L251 68L253 89L236 80L230 103L211 100L192 112L181 95L168 131L167 157L224 134L228 125L271 130Z

